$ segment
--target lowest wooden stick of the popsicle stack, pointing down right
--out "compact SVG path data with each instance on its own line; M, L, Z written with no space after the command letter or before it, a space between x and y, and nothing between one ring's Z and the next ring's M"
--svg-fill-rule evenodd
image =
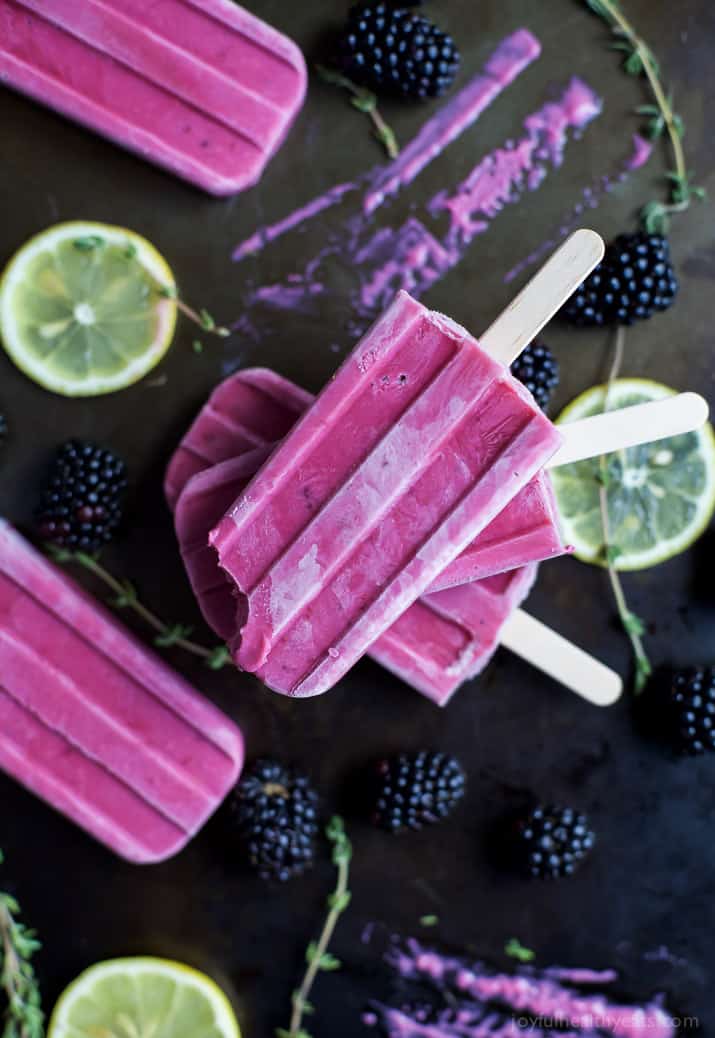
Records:
M597 707L610 706L623 692L623 681L615 671L522 609L508 618L499 640Z

